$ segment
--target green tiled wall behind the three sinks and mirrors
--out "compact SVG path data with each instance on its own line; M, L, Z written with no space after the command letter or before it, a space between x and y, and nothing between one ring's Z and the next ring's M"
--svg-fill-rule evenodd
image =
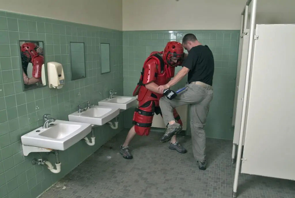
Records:
M45 61L63 64L62 89L44 87L22 91L19 39L44 41ZM70 77L70 41L85 43L86 78L76 81ZM110 43L111 51L111 72L103 75L100 74L100 42ZM33 157L39 158L37 154L24 157L22 153L20 137L40 127L43 114L68 120L68 114L81 102L90 100L97 104L108 96L109 89L123 94L122 51L122 31L0 11L0 197L37 197L123 128L120 115L117 130L109 126L95 129L95 146L80 141L60 152L59 174L43 166L33 166L31 161ZM54 156L41 155L55 163Z

